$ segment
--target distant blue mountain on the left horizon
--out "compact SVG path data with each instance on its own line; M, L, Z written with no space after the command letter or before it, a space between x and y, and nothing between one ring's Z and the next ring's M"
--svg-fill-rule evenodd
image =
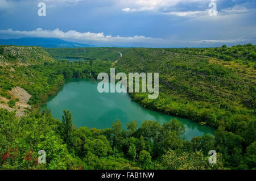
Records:
M20 39L7 39L1 40L1 45L20 45L20 46L40 46L48 48L79 48L79 47L96 47L95 45L75 43L56 38L43 38L43 37L23 37Z

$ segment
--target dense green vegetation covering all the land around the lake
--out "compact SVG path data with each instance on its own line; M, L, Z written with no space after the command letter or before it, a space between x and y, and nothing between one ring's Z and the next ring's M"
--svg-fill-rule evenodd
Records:
M101 48L90 48L88 56L86 51L75 56L76 51L70 53L73 48L67 49L69 53L46 49L54 57L82 56L90 60L73 62L53 60L39 47L1 48L0 95L13 100L10 106L17 101L9 92L13 87L22 87L32 95L26 116L18 118L15 112L0 109L1 169L256 168L255 56L249 58L255 53L255 45L110 48L109 54L100 52ZM29 54L27 49L33 49L28 57L38 53L42 60L18 64L27 60L23 58ZM119 57L118 52L123 56ZM227 52L232 60L221 58ZM131 121L125 125L127 129L113 120L112 128L89 129L72 126L68 110L61 120L53 119L48 109L40 111L39 105L55 94L65 79L95 79L100 72L109 73L111 67L125 73L159 72L158 99L147 99L146 93L131 97L151 110L215 127L214 137L205 134L184 141L184 126L176 119L162 125L145 120L141 127ZM46 164L38 164L39 150L46 151ZM217 151L217 164L208 162L209 150Z

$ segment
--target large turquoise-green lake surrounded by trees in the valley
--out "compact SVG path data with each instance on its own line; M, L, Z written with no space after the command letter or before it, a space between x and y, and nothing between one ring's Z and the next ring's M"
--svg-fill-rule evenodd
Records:
M86 79L66 80L60 91L51 96L42 108L48 107L53 117L60 120L63 110L70 110L73 124L77 127L111 128L111 123L118 119L126 128L126 123L132 120L137 120L138 125L141 125L144 120L164 123L176 117L185 125L187 140L206 133L214 133L213 128L201 126L191 120L142 108L138 103L133 102L127 93L99 93L97 84L98 82Z

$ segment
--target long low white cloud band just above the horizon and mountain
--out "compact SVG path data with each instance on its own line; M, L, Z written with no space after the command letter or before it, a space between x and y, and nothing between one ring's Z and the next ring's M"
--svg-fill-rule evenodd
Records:
M104 35L101 33L93 32L77 32L75 30L70 30L67 32L59 30L43 30L42 28L37 28L33 31L14 31L12 29L0 30L0 35L9 35L12 37L55 37L64 40L77 41L79 43L90 43L100 46L134 46L135 47L183 47L184 44L190 43L191 47L201 47L207 45L209 47L218 46L220 44L238 44L249 42L252 39L247 39L246 37L234 38L234 39L205 39L205 40L183 40L183 39L161 39L146 36L112 36ZM187 46L187 45L186 45Z

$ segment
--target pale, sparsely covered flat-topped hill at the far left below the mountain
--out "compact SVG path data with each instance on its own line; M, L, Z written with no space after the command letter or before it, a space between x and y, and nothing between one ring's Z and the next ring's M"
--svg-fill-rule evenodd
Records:
M42 64L55 61L41 47L0 45L0 65Z

